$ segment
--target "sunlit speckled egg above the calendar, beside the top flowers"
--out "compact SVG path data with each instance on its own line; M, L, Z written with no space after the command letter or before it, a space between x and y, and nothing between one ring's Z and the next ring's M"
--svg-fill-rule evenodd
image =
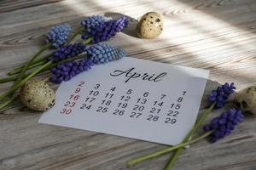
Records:
M142 38L158 37L164 29L164 21L160 14L149 12L144 14L137 24L137 36Z

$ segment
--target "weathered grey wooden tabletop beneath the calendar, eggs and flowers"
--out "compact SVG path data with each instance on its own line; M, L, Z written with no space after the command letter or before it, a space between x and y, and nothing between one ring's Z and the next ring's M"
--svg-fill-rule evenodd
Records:
M134 37L136 19L148 11L163 15L164 32L153 40ZM80 20L93 14L125 14L134 19L128 30L111 40L131 57L209 69L212 81L235 82L238 90L256 83L255 0L2 0L0 77L26 62L44 43L42 35L51 26L68 22L78 27ZM207 88L212 89L209 84ZM0 91L3 93L10 85L1 84ZM1 170L121 170L126 169L125 161L132 157L166 147L39 124L40 116L41 113L24 108L19 100L1 112ZM169 157L130 169L162 169ZM229 138L217 144L207 140L194 144L183 152L174 169L256 169L255 118L246 118Z

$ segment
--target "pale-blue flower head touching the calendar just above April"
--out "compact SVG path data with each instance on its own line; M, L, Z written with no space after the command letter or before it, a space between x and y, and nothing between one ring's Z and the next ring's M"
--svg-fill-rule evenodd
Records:
M103 64L108 61L121 59L126 54L123 48L115 48L108 43L99 43L90 46L89 48L86 48L86 53L95 64Z

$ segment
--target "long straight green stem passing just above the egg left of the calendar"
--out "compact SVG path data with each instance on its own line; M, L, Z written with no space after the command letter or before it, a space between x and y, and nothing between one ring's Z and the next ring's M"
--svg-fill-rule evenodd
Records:
M24 85L25 82L27 82L33 76L37 75L38 72L42 71L45 67L49 66L51 63L52 61L49 61L48 63L40 66L37 70L32 71L32 73L30 73L26 78L22 79L20 82L15 83L14 86L9 88L9 90L5 94L0 95L0 100L3 100L4 98L6 98L9 94L13 94L18 88L20 88L20 86Z

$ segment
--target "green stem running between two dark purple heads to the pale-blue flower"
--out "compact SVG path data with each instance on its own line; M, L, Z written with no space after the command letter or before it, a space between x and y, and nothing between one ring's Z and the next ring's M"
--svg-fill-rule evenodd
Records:
M86 56L87 56L86 54L81 54L81 55L78 55L78 56L73 57L73 58L64 59L64 60L62 60L59 63L52 63L51 65L49 65L46 68L44 68L42 71L39 71L38 73L41 73L41 72L44 72L44 71L48 71L49 68L51 68L53 66L56 66L56 65L59 65L59 64L62 64L62 63L67 63L69 61L73 61L73 60L76 60L76 59L82 59L82 58L85 58ZM28 74L24 75L24 77L26 77L26 76L28 76ZM12 81L17 80L17 78L18 78L17 76L2 78L2 79L0 79L0 83L12 82Z

